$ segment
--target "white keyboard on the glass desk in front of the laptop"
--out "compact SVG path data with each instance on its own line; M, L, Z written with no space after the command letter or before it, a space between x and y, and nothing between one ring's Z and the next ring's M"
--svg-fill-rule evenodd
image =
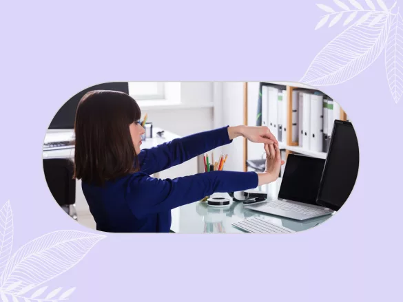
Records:
M287 234L295 233L289 228L284 228L276 224L271 224L268 218L265 217L249 217L240 222L232 224L248 233L271 233L271 234Z

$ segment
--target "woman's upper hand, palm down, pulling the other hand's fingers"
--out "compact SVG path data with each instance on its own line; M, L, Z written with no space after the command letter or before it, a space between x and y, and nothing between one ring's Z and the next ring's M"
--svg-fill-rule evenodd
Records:
M278 144L273 133L266 126L237 126L228 127L229 139L233 140L237 136L243 136L251 142L260 142L263 144Z

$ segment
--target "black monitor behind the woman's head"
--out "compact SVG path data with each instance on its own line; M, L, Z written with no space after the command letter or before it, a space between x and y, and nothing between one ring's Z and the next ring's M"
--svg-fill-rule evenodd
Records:
M50 122L49 129L74 129L74 120L76 118L76 109L79 105L79 101L88 91L91 90L114 90L122 91L129 94L129 83L128 82L113 82L113 83L103 83L99 85L94 85L88 87L83 91L70 98L60 109L57 111L52 122Z

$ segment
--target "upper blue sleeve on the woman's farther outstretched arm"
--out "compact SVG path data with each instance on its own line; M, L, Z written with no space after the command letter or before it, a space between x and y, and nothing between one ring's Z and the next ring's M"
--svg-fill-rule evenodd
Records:
M226 126L143 149L139 154L141 172L151 175L163 171L230 142Z

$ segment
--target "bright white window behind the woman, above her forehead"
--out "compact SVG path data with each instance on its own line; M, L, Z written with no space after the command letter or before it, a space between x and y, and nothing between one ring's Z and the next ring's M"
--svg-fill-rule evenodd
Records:
M129 94L135 100L163 100L164 84L164 82L129 82Z

